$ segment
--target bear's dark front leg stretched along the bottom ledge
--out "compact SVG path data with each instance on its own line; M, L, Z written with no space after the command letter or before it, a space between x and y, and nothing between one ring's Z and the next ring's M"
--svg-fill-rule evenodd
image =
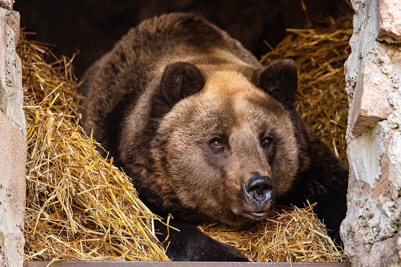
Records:
M169 229L170 235L163 244L167 247L166 255L172 261L249 261L241 255L237 249L220 243L201 231L195 226L185 223L170 223L170 225L180 231ZM155 221L154 226L160 241L166 239L167 227Z

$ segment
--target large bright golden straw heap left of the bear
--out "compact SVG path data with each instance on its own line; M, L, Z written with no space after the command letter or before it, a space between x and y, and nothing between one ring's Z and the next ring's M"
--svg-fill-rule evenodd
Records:
M24 34L22 34L24 35ZM22 37L27 124L25 259L168 261L157 219L77 125L71 61Z

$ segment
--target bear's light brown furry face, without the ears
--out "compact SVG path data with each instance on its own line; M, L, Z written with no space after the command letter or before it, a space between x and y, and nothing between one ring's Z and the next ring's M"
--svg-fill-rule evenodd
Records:
M230 225L265 218L298 170L290 115L240 73L213 72L204 83L160 122L158 179L196 217Z

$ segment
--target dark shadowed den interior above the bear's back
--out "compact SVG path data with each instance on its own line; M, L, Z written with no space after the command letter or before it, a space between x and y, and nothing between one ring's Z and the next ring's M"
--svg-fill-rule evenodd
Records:
M238 39L258 59L275 47L286 28L324 26L319 18L339 15L344 0L16 0L28 38L51 44L56 56L74 59L75 74L108 52L129 28L168 12L200 14ZM306 9L306 11L305 11ZM310 20L309 20L309 18Z

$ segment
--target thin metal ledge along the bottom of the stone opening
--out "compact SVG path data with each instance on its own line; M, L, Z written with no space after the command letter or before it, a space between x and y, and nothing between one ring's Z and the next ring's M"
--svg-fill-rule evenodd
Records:
M24 267L46 267L50 261L24 261ZM50 267L351 267L351 263L55 261Z

